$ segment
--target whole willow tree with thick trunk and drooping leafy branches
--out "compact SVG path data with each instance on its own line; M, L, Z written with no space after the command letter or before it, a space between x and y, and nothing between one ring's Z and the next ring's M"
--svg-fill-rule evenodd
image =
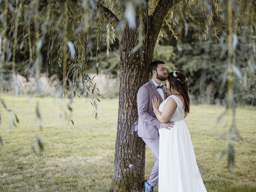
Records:
M15 82L17 52L28 52L24 65L37 79L44 64L42 46L48 46L45 64L49 68L54 63L52 56L57 48L54 57L63 70L63 95L70 89L71 100L78 93L90 97L97 118L100 90L92 83L86 67L93 52L98 58L100 44L104 41L102 32L107 31L107 49L111 38L117 35L120 94L110 191L140 191L144 180L145 145L136 133L131 132L131 127L137 119L136 94L138 88L148 81L148 66L158 37L162 35L162 25L169 27L177 46L191 28L201 38L216 43L216 51L221 52L224 60L228 59L223 86L227 86L228 80L227 106L231 109L235 108L234 72L241 76L234 65L235 56L241 54L241 50L250 52L250 58L243 61L248 62L248 68L255 69L254 9L252 0L0 0L0 82L3 74L8 73L5 69L11 69ZM202 23L203 17L207 22ZM106 26L104 21L108 23ZM242 38L249 41L249 46L236 49L238 34L243 34ZM96 59L97 74L99 63ZM248 72L254 74L252 70ZM244 72L244 76L248 72ZM71 79L71 84L66 84L68 79ZM237 133L234 118L229 133L228 156L232 163L232 140Z

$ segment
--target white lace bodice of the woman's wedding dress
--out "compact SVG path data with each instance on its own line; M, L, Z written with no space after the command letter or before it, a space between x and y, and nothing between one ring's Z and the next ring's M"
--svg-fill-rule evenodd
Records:
M169 99L169 98L173 98L174 101L177 103L177 108L174 112L174 114L172 115L172 117L170 118L170 121L181 121L181 120L184 120L184 106L183 106L183 103L182 101L180 100L180 98L178 98L177 96L175 95L171 95L169 96L168 98L166 98L166 100L164 100L160 106L159 106L159 110L160 112L162 112L163 108L164 108L164 104L166 103L166 101Z

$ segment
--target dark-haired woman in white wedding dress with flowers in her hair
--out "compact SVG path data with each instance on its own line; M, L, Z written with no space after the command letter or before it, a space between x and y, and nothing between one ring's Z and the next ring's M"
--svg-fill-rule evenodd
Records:
M158 97L152 99L158 120L175 122L171 130L159 129L159 192L206 192L184 122L190 105L187 81L181 72L169 73L166 87L172 95L161 104Z

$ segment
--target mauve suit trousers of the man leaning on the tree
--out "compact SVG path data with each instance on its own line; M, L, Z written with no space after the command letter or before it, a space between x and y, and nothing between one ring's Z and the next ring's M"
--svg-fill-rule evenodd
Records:
M154 154L155 164L151 170L151 173L148 177L148 184L155 187L158 184L158 157L159 157L159 135L156 139L142 138L146 145Z

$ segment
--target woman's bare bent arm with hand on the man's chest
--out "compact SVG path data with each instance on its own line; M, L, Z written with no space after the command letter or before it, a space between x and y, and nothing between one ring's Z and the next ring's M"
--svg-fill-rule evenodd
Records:
M154 97L154 99L152 100L153 103L153 108L154 108L154 103L159 103L159 98ZM156 105L157 106L157 105ZM159 107L159 105L158 105ZM177 103L175 102L175 100L173 98L169 98L166 103L164 104L164 108L162 110L162 112L160 112L157 108L154 108L155 110L155 114L156 114L156 118L158 118L158 120L161 123L166 123L170 120L170 118L172 117L172 115L174 114L176 108L177 108Z

